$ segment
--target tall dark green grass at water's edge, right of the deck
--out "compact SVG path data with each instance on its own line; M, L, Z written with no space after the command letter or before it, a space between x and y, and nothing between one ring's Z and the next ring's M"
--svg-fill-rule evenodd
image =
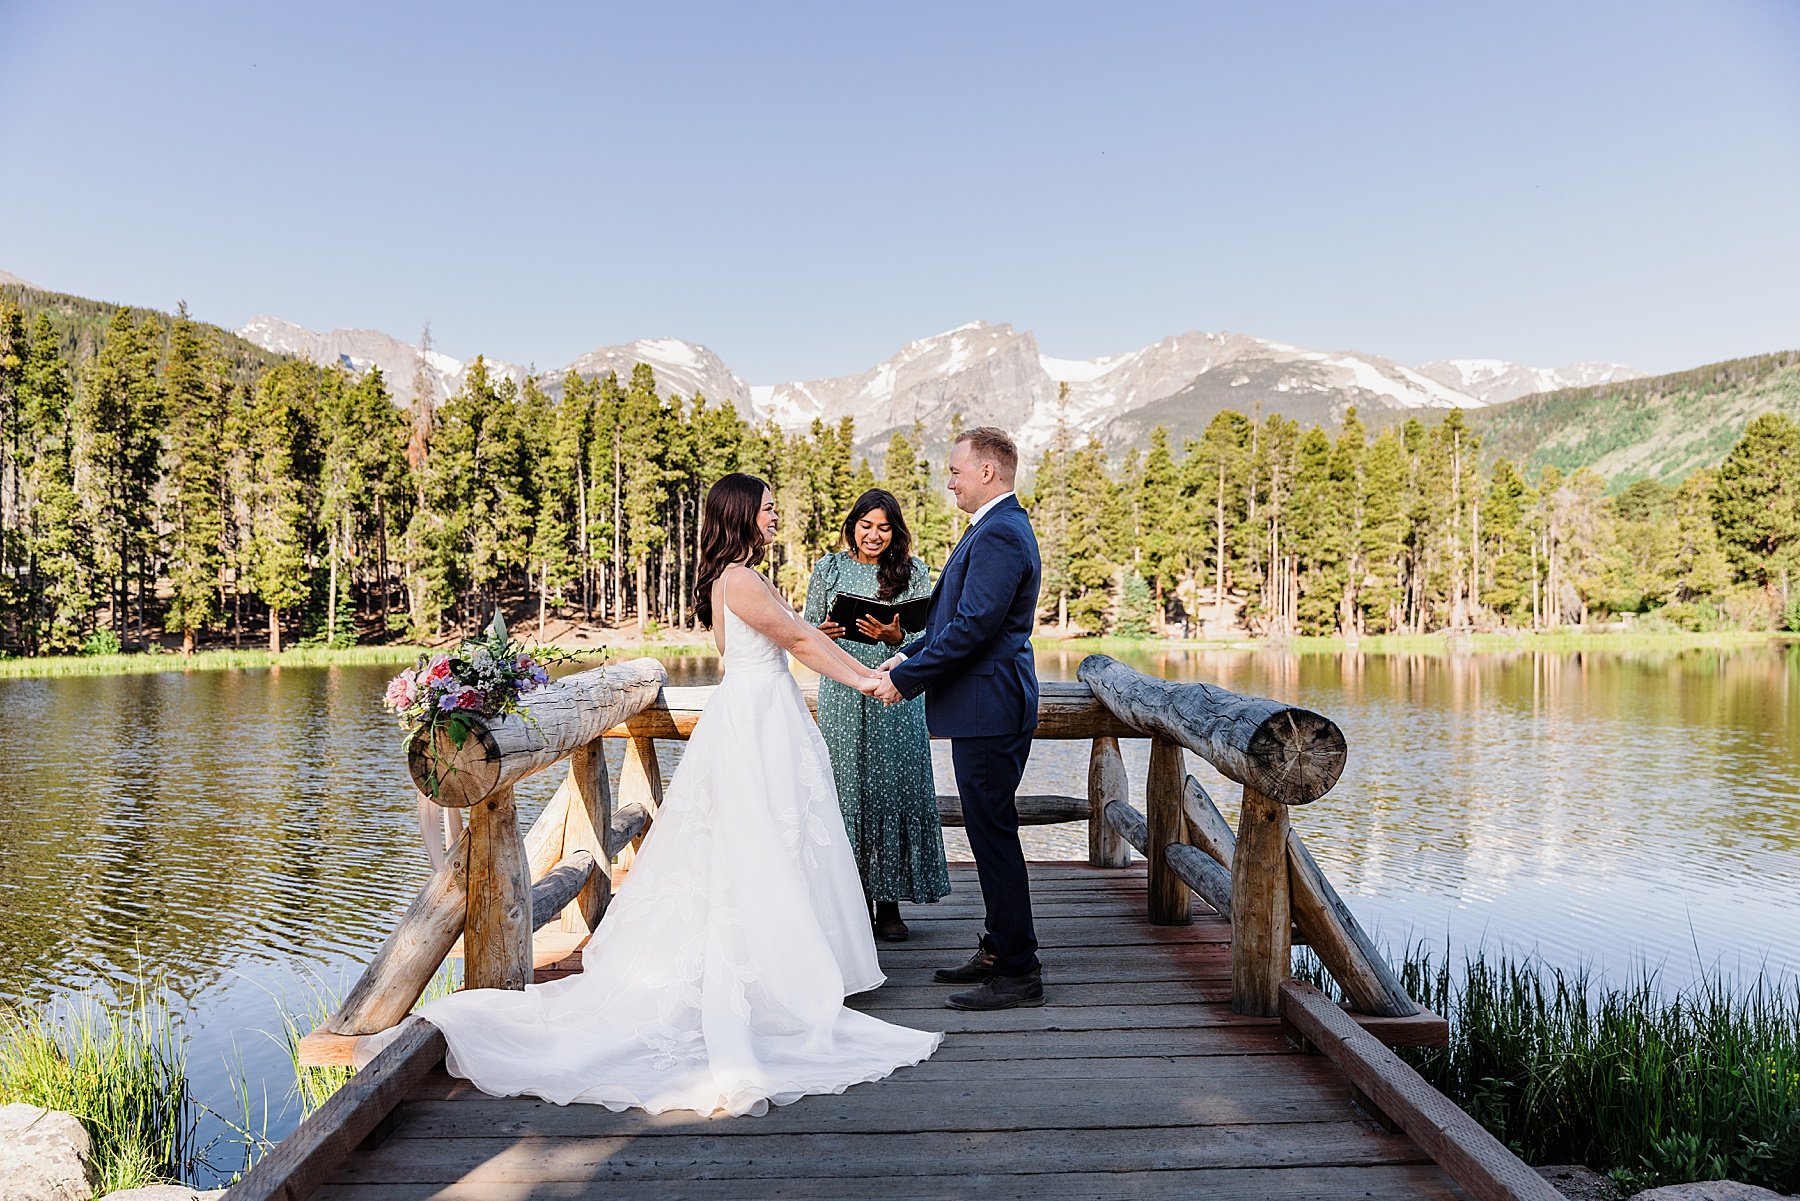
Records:
M1303 953L1296 976L1323 969ZM1800 983L1667 996L1651 972L1615 987L1481 953L1451 971L1417 947L1400 976L1451 1023L1447 1048L1402 1057L1528 1163L1800 1192Z

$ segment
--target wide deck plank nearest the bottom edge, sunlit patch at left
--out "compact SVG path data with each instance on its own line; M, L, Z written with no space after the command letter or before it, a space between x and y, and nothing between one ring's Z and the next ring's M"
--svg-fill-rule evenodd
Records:
M1215 1125L1183 1131L1019 1131L1003 1147L983 1134L668 1134L457 1138L441 1147L394 1138L346 1163L344 1183L621 1183L783 1179L790 1176L963 1176L1006 1163L1044 1172L1159 1172L1201 1167L1418 1163L1406 1138L1368 1122Z

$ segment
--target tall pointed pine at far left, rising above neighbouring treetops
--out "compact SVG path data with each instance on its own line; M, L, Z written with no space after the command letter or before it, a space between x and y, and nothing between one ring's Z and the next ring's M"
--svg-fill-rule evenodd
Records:
M169 331L164 366L169 407L169 589L164 625L182 632L193 654L200 632L221 616L225 571L225 364L200 340L182 304Z

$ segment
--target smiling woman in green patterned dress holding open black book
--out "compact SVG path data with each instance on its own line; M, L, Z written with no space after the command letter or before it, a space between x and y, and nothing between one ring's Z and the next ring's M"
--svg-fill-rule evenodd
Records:
M812 569L805 616L873 668L923 628L931 567L913 556L900 501L882 488L869 488L857 499L842 533L846 549L826 555ZM887 706L821 679L819 731L832 756L837 801L857 853L875 936L905 942L900 902L929 904L950 891L925 699Z

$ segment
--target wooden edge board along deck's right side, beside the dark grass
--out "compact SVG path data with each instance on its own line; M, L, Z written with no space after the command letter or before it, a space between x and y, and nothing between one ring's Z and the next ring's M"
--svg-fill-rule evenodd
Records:
M1562 1194L1426 1084L1312 985L1282 985L1282 1019L1343 1070L1384 1116L1399 1124L1476 1201L1561 1201Z

